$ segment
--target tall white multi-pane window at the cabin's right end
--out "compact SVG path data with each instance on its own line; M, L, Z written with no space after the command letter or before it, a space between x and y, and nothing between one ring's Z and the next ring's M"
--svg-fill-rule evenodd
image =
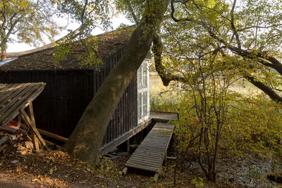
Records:
M149 59L145 59L137 71L138 123L149 118Z

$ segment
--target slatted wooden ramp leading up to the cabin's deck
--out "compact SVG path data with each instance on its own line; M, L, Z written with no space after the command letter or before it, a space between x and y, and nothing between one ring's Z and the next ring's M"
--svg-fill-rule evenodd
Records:
M128 168L146 170L155 173L154 180L159 176L159 170L166 159L166 151L173 134L174 125L167 123L156 123L147 137L138 146L132 156L125 163L123 173Z

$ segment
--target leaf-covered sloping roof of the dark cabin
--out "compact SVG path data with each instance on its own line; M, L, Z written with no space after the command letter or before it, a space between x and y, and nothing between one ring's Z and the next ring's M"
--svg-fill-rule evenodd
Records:
M117 51L124 49L130 39L132 29L115 30L106 32L99 37L97 55L106 59ZM87 69L90 66L79 65L78 56L85 53L85 47L82 44L75 46L74 53L67 56L60 63L54 63L54 47L33 51L30 54L18 56L15 60L0 66L0 70L69 70L69 69Z

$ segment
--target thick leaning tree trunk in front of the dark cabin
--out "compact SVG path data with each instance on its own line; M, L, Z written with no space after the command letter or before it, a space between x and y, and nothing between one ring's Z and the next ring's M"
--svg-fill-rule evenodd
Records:
M168 0L148 1L145 15L133 32L128 46L116 67L85 109L78 125L63 146L71 156L90 164L97 163L106 127L126 87L148 54L152 37L159 28Z

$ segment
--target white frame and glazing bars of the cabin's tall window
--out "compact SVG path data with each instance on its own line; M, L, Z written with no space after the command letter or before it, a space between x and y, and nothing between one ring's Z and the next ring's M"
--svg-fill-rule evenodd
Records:
M140 68L138 69L137 71L137 101L139 100L139 96L140 94L142 95L141 96L141 106L138 106L138 102L137 102L137 117L138 117L138 123L141 123L147 119L149 119L149 63L150 63L150 59L148 58L145 58L145 60L143 61L142 65L140 65ZM147 72L145 73L144 75L144 66L146 66L147 68ZM141 70L140 70L141 69ZM140 74L142 75L141 77L141 85L139 84L139 77L140 77ZM144 87L144 80L143 80L143 77L147 76L147 86ZM143 94L147 92L147 109L144 109L145 108L145 105L144 102L145 102L145 97L143 96ZM140 108L141 107L141 108ZM140 109L141 109L141 117L139 116L140 114ZM147 114L145 115L144 114L144 110L147 111Z

